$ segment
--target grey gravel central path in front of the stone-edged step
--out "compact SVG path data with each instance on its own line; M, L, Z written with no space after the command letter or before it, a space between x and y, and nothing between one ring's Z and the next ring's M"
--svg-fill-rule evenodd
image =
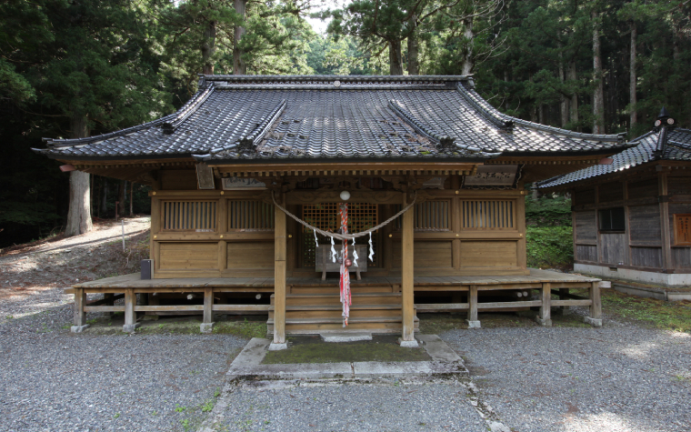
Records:
M225 396L221 431L464 431L486 423L453 384L237 388Z

